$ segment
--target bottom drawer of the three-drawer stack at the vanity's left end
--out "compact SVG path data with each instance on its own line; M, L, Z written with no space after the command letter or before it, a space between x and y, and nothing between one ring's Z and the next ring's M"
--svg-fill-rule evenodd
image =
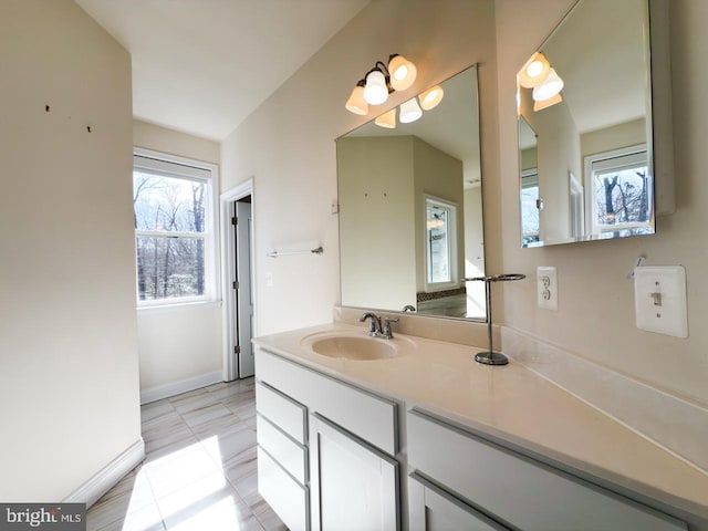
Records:
M298 485L262 448L258 449L258 491L288 529L310 529L308 488Z

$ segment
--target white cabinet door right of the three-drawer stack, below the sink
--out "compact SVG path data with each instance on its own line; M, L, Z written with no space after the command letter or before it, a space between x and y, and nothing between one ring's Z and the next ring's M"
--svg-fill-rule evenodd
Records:
M396 460L317 415L310 430L312 529L398 530Z

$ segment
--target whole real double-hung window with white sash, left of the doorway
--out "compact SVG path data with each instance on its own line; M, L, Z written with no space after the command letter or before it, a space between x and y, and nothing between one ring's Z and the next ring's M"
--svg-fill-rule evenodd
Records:
M133 162L138 304L214 300L214 168L152 152Z

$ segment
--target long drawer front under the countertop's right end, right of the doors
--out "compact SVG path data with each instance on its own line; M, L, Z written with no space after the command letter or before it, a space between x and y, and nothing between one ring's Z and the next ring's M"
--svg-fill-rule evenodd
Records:
M686 524L413 410L408 464L524 531L686 530Z

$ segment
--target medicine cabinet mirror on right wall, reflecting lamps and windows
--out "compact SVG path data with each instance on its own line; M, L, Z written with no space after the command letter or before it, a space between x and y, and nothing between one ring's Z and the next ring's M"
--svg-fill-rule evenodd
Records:
M522 247L654 233L648 31L647 0L580 0L519 72Z

